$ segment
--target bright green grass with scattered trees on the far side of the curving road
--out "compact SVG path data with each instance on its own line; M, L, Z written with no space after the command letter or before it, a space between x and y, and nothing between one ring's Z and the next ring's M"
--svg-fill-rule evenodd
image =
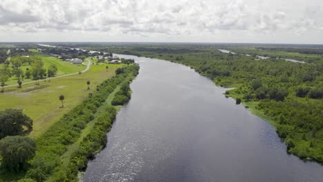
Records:
M31 52L33 52L33 54L35 54L36 56L41 57L41 60L43 61L43 68L47 69L50 65L55 64L58 69L56 76L79 72L86 68L86 65L75 65L72 63L68 63L67 61L63 61L56 57L51 57L50 55L37 52L37 50L31 50ZM31 68L31 66L30 65L21 66L21 70L23 70L23 72L26 72L26 68ZM14 77L14 76L10 77L9 80L6 82L6 85L15 85L17 84L17 81L18 81L17 77ZM28 82L28 81L32 81L32 78L23 80L23 82Z

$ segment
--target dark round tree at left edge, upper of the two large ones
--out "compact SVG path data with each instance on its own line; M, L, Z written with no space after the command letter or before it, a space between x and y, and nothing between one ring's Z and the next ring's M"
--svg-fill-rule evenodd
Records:
M0 139L6 136L27 134L32 131L32 119L22 110L0 111Z

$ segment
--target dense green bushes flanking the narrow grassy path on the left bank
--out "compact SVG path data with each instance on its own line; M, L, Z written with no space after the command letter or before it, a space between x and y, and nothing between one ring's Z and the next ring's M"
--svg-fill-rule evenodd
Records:
M63 169L60 156L66 152L68 145L79 139L81 130L86 127L88 122L95 119L98 108L104 104L108 95L115 90L117 85L130 75L137 75L139 65L129 65L123 70L124 72L121 74L101 83L96 92L90 93L83 103L64 114L57 123L37 139L38 150L26 173L26 179L46 181L48 176L54 172L50 181L75 181L77 171L84 169L88 158L106 144L106 131L109 130L116 111L106 108L106 114L99 114L93 130L84 138L79 150L72 154L67 169Z

